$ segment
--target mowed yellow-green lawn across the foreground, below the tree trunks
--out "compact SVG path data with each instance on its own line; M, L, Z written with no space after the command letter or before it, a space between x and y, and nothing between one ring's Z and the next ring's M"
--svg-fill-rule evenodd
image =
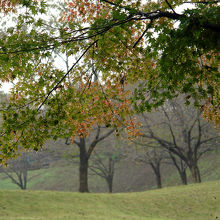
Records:
M2 190L0 219L220 219L220 181L112 195Z

